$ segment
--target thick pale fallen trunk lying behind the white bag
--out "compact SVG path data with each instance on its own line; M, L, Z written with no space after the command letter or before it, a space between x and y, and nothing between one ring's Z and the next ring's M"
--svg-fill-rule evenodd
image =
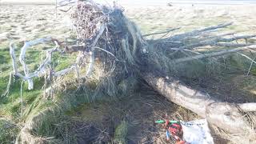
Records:
M193 90L175 78L165 78L153 73L144 73L142 78L171 102L206 118L210 124L230 134L256 134L245 114L248 111L256 111L256 103L220 102L209 94Z

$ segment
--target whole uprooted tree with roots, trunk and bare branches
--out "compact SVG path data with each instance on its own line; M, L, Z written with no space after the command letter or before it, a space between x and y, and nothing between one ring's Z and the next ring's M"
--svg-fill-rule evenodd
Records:
M102 6L93 1L78 2L71 18L77 34L76 43L71 45L54 38L24 42L18 58L23 74L18 70L14 44L10 44L13 74L28 82L29 90L33 89L33 78L45 77L49 81L45 94L53 94L56 83L50 80L74 73L76 78L86 81L94 73L95 65L99 64L104 73L98 87L102 87L106 94L116 94L118 82L136 75L144 78L171 102L206 118L210 124L230 134L255 134L255 127L250 125L246 112L255 111L256 103L222 102L182 84L177 78L171 77L171 73L186 62L218 62L219 56L225 54L254 51L256 45L247 39L256 35L214 34L216 30L232 25L229 22L165 38L146 39L154 34L142 35L121 8ZM167 34L172 30L156 34ZM245 41L240 42L242 39ZM46 42L54 42L56 46L46 50L41 65L30 72L25 62L26 50ZM51 66L54 53L76 54L76 61L66 69L55 71ZM256 63L253 59L250 61Z

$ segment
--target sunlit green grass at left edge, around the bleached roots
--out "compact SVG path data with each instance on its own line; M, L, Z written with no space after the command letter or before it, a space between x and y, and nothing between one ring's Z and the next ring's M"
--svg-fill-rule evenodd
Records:
M22 42L17 42L15 53L18 58L20 48L22 47ZM38 45L32 46L26 51L26 64L29 66L30 71L34 71L38 68L39 62L42 62L44 54L39 52L39 50L46 50L53 46ZM62 57L60 54L54 54L53 66L56 70L62 70L63 68L70 65L70 57ZM58 59L58 61L57 61ZM18 60L18 59L17 59ZM22 66L19 65L19 69L22 72ZM10 72L12 71L9 47L7 42L3 42L0 45L0 95L6 91L6 85L9 81ZM35 108L37 110L43 110L47 106L52 106L52 102L45 102L40 104L40 99L42 98L42 86L44 85L44 78L34 78L34 90L27 90L27 82L24 82L22 86L22 96L23 96L23 116L21 117L22 111L22 101L21 101L21 84L22 80L20 78L12 78L10 84L10 93L6 96L0 97L0 116L3 118L10 118L11 123L19 123L25 120L28 115ZM1 118L0 117L0 118ZM18 133L18 128L12 128L5 130L5 124L0 123L0 143L13 142L15 134ZM5 130L5 131L4 131ZM14 130L14 131L13 131Z

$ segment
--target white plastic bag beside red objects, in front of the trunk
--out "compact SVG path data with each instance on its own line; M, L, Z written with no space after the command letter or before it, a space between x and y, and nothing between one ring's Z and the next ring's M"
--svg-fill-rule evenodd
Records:
M183 140L189 144L214 144L206 119L181 122Z

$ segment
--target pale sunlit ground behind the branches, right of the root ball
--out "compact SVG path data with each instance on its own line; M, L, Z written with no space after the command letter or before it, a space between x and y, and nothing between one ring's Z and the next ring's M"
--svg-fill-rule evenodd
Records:
M256 5L178 5L178 6L124 6L126 14L142 32L155 32L181 27L193 30L222 22L234 22L228 30L251 34L256 32Z

